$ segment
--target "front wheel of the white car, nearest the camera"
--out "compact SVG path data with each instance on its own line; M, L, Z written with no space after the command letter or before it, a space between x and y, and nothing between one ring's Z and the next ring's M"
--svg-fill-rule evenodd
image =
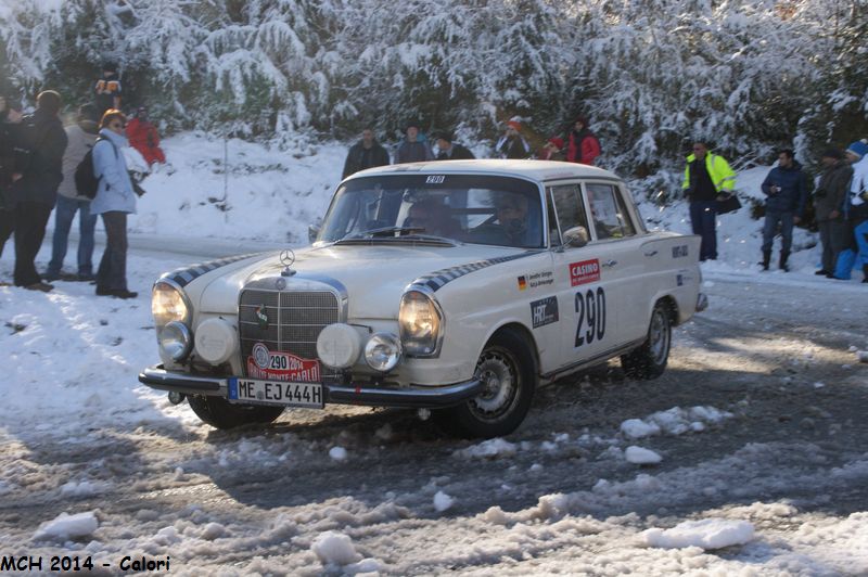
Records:
M441 423L467 438L515 431L531 410L536 388L536 359L522 335L507 329L493 336L476 361L474 377L486 382L485 392L444 409Z

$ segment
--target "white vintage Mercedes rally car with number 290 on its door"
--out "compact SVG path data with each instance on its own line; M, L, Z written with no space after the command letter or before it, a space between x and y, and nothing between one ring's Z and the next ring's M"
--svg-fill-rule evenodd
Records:
M161 277L162 363L139 380L218 428L349 403L495 437L570 372L621 357L659 376L706 306L699 238L648 232L621 179L577 164L365 170L311 240Z

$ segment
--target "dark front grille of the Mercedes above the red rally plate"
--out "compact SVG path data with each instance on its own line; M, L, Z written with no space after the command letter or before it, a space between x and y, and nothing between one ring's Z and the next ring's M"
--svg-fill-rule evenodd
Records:
M268 318L266 328L256 315L259 307ZM256 343L263 343L270 351L316 359L319 333L340 321L340 303L331 291L243 290L239 302L239 335L245 376L247 358ZM320 364L320 370L323 377L336 376L328 367Z

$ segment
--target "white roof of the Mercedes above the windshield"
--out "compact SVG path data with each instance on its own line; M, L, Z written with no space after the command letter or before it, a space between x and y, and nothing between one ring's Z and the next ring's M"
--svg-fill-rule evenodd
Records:
M394 175L401 172L421 174L457 174L474 172L498 176L519 176L534 180L558 180L565 178L614 178L618 177L609 170L576 163L554 161L432 161L427 163L408 163L368 168L356 172L350 178L371 177L374 175Z

